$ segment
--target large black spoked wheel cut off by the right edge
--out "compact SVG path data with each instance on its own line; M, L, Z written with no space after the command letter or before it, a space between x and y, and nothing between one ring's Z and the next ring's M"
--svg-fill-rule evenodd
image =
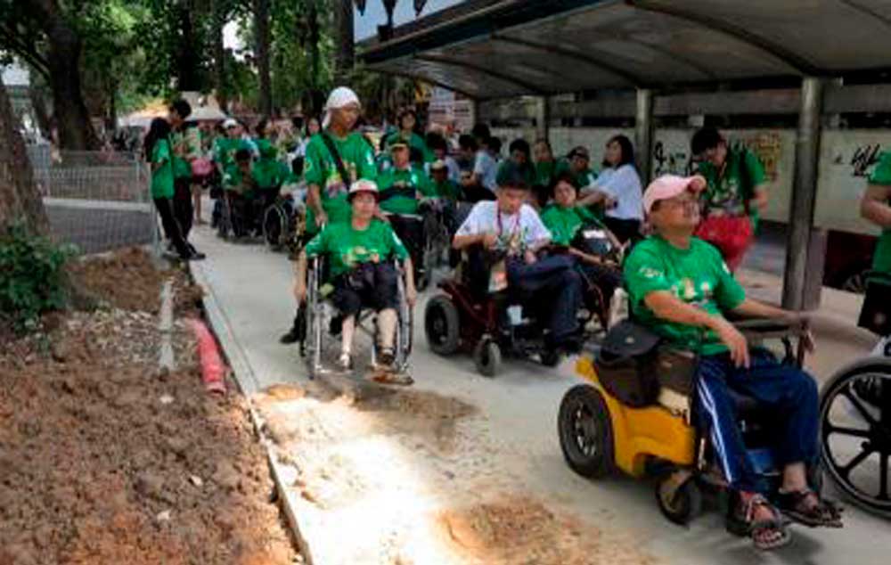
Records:
M854 504L891 517L891 360L867 359L834 376L820 402L822 459Z

